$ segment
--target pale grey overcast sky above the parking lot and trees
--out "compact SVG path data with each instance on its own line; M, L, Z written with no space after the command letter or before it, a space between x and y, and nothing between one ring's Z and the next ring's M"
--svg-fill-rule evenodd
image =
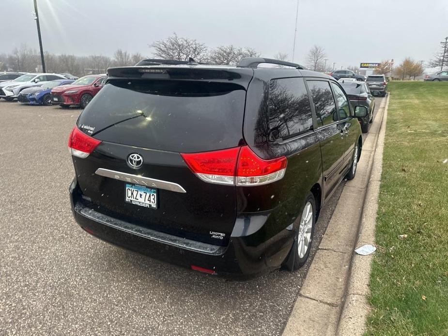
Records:
M32 0L0 0L0 53L38 49ZM44 50L151 56L172 32L209 47L249 46L264 57L293 53L296 0L38 0ZM429 61L448 36L448 0L299 0L294 61L313 45L336 67L410 56Z

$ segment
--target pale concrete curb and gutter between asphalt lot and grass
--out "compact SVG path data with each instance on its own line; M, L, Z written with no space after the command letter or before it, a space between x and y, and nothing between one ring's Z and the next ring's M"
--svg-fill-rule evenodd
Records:
M362 335L364 331L372 256L357 256L354 250L374 243L388 101L387 96L375 116L355 179L345 184L283 336Z

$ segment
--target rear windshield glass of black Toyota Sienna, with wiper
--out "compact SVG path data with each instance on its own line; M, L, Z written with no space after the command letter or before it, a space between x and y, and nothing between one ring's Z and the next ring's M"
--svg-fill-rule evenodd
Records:
M246 91L232 83L111 80L81 113L103 141L194 153L238 146Z

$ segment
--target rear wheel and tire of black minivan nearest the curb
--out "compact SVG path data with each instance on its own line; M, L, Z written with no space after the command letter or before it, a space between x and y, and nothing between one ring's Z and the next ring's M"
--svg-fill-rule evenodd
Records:
M294 244L284 263L290 271L298 270L308 260L316 224L316 201L312 193L308 193L302 214L297 217L299 225L294 235Z

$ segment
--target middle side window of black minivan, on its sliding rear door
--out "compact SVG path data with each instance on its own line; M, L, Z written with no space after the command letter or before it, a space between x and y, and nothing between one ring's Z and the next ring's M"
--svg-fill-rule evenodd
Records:
M307 83L313 98L319 126L338 121L336 105L330 90L330 84L323 80L309 80Z

